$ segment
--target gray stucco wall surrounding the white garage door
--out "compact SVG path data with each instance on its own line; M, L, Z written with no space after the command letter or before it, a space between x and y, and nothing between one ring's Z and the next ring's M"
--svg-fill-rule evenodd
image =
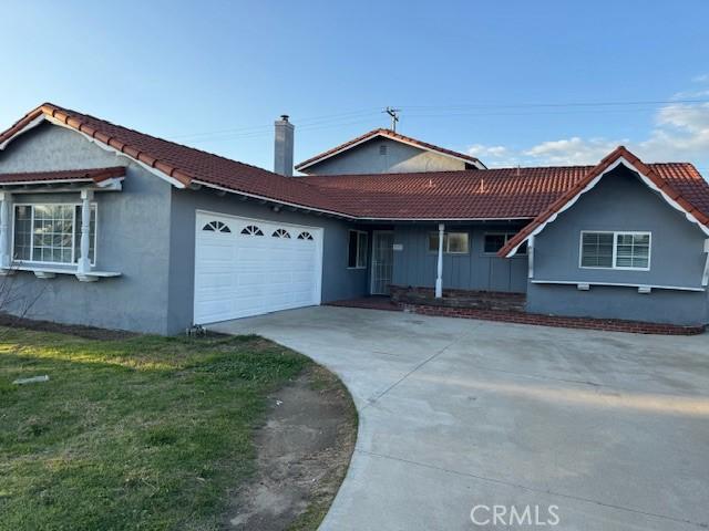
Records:
M271 221L321 227L322 242L322 302L361 296L369 289L369 263L367 269L348 269L347 254L349 229L369 229L333 218L281 210L274 212L267 206L242 201L238 196L217 196L203 189L176 190L172 192L172 227L169 249L169 315L168 332L177 333L193 322L194 261L195 261L195 212L208 210L232 216L244 216ZM371 249L371 233L369 237ZM371 258L371 252L368 252Z

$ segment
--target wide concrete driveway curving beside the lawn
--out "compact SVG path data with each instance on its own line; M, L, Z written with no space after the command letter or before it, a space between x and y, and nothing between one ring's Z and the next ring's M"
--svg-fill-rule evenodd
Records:
M357 448L321 529L667 531L709 523L707 334L327 306L217 329L302 352L354 397ZM471 520L476 506L480 524ZM497 525L492 506L506 508ZM510 506L524 522L526 506L532 517L538 506L542 522L554 523L552 512L561 522L507 527Z

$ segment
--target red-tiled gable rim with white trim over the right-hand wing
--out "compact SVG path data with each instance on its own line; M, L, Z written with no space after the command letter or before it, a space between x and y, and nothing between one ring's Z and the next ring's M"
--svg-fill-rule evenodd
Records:
M511 238L510 241L500 249L497 254L503 258L514 256L522 243L542 232L548 223L556 220L559 214L572 208L580 196L593 189L605 175L619 165L624 165L635 171L645 185L659 192L660 197L662 197L669 206L682 212L688 221L696 223L709 236L709 212L707 210L700 209L695 201L685 197L679 191L679 187L672 186L669 179L659 175L653 166L643 163L643 160L630 153L625 146L618 146L600 160L597 166L590 169L583 179L569 188L566 194L552 202L542 214ZM697 174L697 176L702 180L699 174ZM705 187L706 186L707 184L705 183ZM706 190L701 196L707 196Z

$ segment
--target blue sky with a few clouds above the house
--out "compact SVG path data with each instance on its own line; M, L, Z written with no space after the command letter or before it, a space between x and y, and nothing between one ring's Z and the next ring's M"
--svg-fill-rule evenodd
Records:
M0 126L51 101L270 168L279 114L302 160L392 105L490 166L624 143L707 176L707 20L706 0L6 0Z

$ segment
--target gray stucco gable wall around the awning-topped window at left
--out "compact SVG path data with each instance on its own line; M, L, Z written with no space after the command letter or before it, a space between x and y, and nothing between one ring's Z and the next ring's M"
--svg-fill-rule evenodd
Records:
M18 272L16 293L40 294L28 316L60 323L167 333L169 185L81 135L42 125L0 152L0 171L127 167L123 191L96 192L96 268L122 275L80 282ZM71 194L14 195L16 202L80 202Z

